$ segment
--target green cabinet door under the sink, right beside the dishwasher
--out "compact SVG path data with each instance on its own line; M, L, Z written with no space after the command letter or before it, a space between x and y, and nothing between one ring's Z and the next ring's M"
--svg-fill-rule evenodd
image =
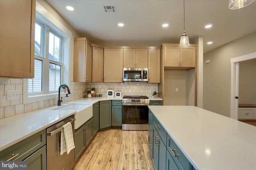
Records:
M82 154L86 147L85 142L85 125L80 127L78 131L75 132L75 162L79 158L79 156Z

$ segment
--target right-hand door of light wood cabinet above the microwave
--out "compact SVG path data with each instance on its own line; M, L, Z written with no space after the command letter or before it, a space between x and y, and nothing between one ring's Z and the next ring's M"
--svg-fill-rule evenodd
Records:
M160 61L160 58L159 58L159 61ZM136 49L135 66L137 68L148 68L148 49ZM159 63L159 66L160 66L160 63Z

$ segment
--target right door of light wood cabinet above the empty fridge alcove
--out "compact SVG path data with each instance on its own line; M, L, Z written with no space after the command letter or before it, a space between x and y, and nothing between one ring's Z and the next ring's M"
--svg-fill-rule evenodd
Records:
M180 48L180 66L181 67L196 66L196 48L195 47Z

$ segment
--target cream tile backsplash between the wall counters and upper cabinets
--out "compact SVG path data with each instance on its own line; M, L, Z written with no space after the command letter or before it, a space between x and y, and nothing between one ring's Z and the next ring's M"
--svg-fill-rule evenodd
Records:
M82 83L82 82L70 82L68 84L71 94L69 95L69 101L83 98L83 92L87 88L94 87L96 94L102 94L106 96L108 89L114 89L122 91L122 96L125 95L139 95L139 96L152 96L154 91L158 92L157 83L147 82L123 82L123 83ZM7 100L8 90L19 90L19 100ZM28 111L42 109L57 105L58 98L50 100L42 100L39 102L33 102L23 104L23 78L4 78L0 77L0 119L10 117ZM63 101L64 102L64 101Z

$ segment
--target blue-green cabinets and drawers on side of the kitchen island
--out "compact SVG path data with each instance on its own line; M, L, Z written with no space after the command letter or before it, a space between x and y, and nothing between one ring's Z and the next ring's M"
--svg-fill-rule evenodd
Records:
M192 164L150 110L148 117L148 145L154 168L156 170L194 170Z

